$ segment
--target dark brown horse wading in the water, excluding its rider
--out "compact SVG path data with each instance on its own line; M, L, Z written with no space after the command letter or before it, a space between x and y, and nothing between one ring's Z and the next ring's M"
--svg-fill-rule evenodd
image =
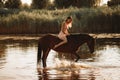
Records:
M37 64L42 58L43 67L46 67L46 59L51 49L57 52L74 54L77 57L76 62L80 58L79 55L76 53L76 51L78 50L79 46L81 46L82 44L87 43L90 52L91 53L94 52L95 41L94 38L89 36L88 34L71 34L67 36L67 39L68 39L67 43L57 47L56 49L53 49L54 46L61 41L58 37L48 34L40 38L38 43Z

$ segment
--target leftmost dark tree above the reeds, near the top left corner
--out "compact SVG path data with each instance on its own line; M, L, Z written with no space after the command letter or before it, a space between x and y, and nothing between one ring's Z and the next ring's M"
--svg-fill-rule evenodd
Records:
M20 8L22 2L21 0L7 0L5 2L6 8Z

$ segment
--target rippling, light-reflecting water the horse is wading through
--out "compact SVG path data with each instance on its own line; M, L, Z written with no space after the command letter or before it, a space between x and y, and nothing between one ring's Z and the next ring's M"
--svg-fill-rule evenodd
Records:
M37 70L37 40L26 38L0 41L0 80L120 80L119 42L98 41L94 54L84 45L78 62L51 50L47 69Z

